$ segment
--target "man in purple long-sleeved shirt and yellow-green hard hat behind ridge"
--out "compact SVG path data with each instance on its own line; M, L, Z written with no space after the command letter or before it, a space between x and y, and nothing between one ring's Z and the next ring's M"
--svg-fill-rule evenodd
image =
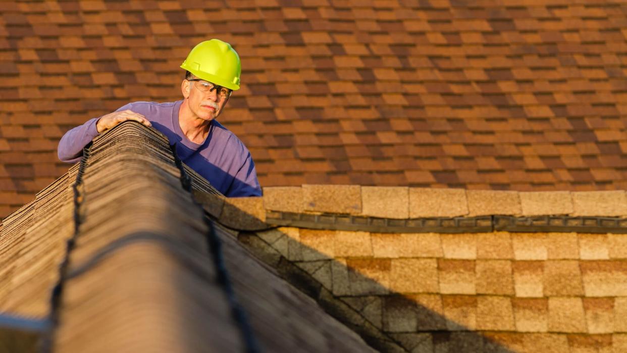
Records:
M59 142L63 162L77 162L94 137L125 120L135 120L166 135L179 158L228 197L261 196L255 164L246 146L216 118L240 89L240 56L229 43L203 41L183 61L183 100L134 102L66 132Z

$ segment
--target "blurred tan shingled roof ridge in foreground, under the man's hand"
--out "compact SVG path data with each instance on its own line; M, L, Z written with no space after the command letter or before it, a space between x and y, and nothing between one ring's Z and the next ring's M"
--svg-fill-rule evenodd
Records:
M126 122L85 154L1 230L1 327L62 352L371 350L205 220L166 137Z

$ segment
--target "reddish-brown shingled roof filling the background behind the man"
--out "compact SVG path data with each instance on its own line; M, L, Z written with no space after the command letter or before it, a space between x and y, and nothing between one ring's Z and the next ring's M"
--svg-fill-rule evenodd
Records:
M0 3L0 215L63 174L61 135L180 97L201 40L233 44L221 121L263 186L627 187L621 1Z

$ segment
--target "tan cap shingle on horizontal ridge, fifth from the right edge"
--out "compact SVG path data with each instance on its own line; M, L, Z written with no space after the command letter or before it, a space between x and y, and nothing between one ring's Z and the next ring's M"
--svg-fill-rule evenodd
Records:
M408 187L362 186L362 214L382 218L409 218Z

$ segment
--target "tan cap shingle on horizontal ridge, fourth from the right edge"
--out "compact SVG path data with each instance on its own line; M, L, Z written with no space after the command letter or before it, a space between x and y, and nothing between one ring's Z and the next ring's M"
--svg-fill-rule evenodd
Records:
M409 188L409 218L456 217L468 214L463 189Z

